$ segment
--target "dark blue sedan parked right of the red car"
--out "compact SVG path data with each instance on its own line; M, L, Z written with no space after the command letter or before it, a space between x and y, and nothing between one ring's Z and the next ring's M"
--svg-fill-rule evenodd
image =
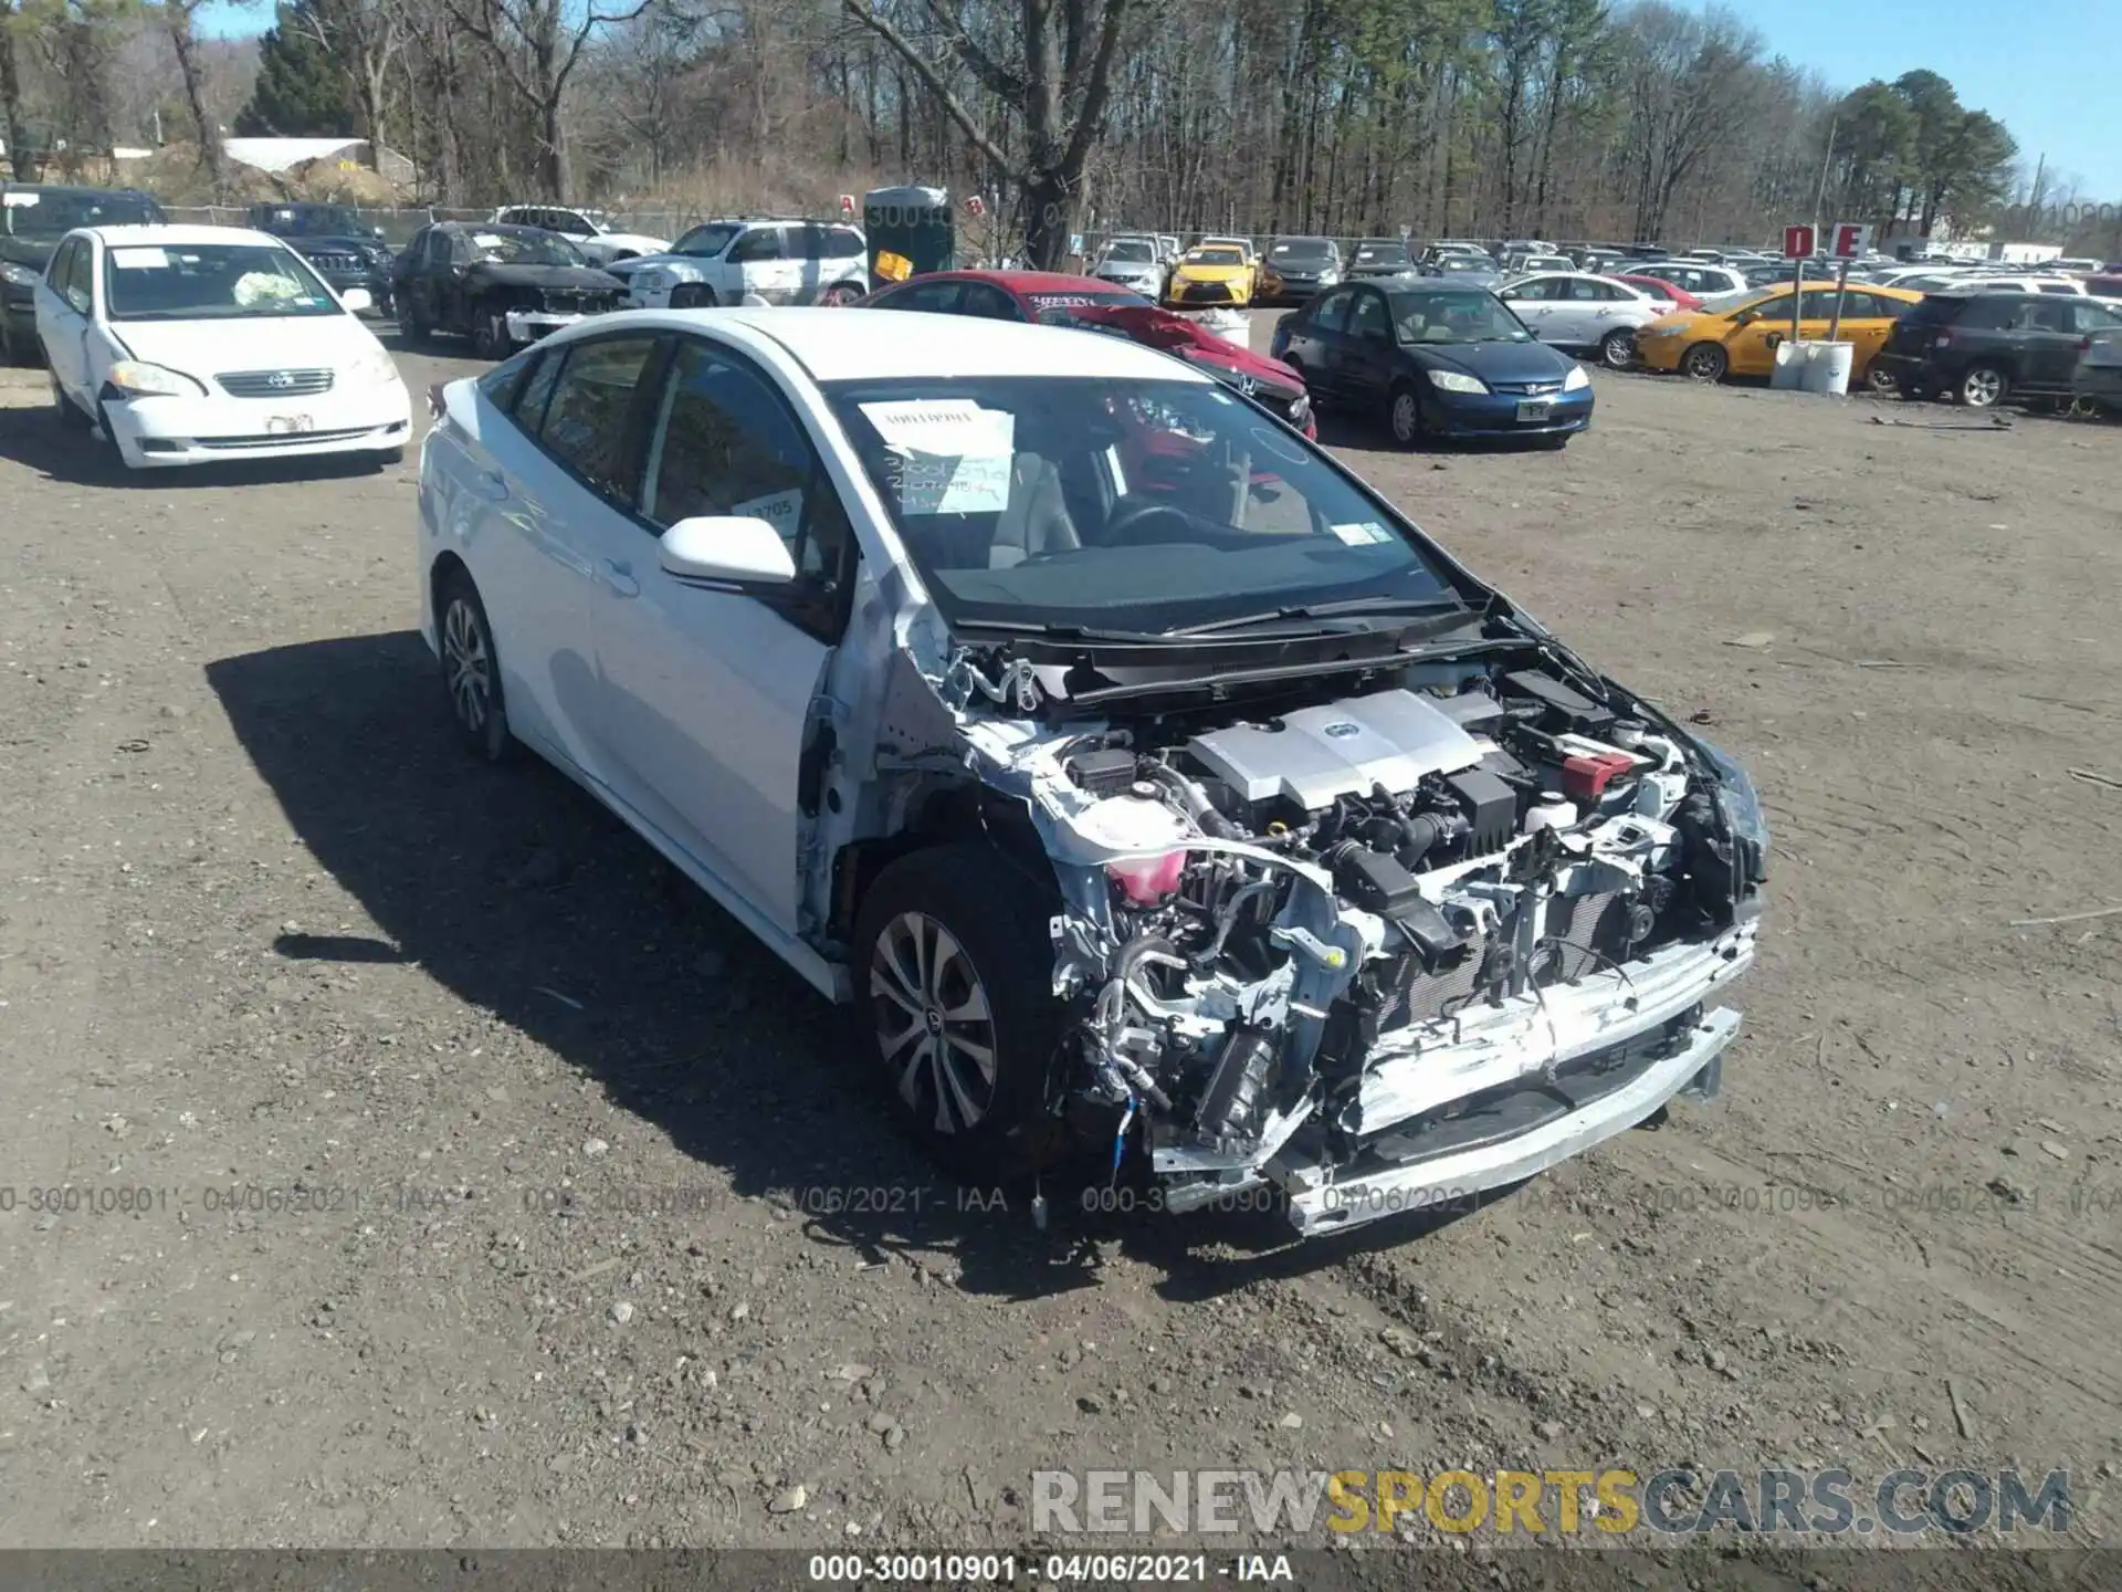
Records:
M1384 416L1403 448L1424 437L1562 448L1592 425L1585 367L1481 289L1347 282L1284 316L1273 350L1316 405Z

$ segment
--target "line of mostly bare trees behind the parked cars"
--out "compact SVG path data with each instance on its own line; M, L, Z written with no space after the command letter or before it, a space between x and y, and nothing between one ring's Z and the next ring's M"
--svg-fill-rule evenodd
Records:
M1670 0L291 0L236 68L197 4L0 0L17 161L34 125L121 144L153 110L208 185L223 127L369 138L435 204L817 210L915 180L989 195L1040 261L1123 225L1967 233L2022 191L1940 74L1840 91ZM163 79L127 76L157 51Z

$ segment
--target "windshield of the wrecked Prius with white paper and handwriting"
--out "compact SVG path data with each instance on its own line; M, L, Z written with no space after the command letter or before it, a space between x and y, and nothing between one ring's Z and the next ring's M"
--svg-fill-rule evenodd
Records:
M1173 630L1443 575L1303 437L1212 382L836 382L840 425L951 620Z

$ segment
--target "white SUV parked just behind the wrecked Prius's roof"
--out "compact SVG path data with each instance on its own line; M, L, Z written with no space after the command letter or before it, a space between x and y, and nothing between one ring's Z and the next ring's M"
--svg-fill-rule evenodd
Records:
M853 304L870 291L859 227L825 221L705 221L666 255L615 261L634 310L715 304Z

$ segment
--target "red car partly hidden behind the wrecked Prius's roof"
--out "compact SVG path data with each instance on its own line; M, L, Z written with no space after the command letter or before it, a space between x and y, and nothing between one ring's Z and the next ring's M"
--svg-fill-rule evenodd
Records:
M1237 388L1288 418L1307 437L1318 435L1311 395L1303 378L1280 359L1256 354L1161 310L1140 293L1099 282L1095 276L1061 272L927 272L908 282L881 287L859 310L927 310L970 314L989 321L1036 321L1050 327L1082 327L1163 348L1188 365L1199 365L1218 382Z

